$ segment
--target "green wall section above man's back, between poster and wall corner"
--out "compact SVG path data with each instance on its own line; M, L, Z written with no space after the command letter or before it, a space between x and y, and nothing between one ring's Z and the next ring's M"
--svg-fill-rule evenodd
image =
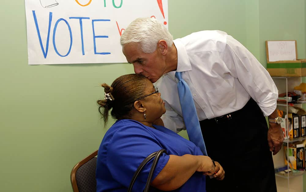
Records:
M200 30L223 30L241 43L246 42L244 1L170 0L168 2L169 30L174 38Z

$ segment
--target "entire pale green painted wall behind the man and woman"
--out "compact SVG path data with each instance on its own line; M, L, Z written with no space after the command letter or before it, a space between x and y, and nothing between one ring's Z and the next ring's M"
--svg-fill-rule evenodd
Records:
M224 30L265 66L265 40L295 39L299 58L306 58L305 6L305 0L169 0L169 30L174 38ZM0 16L1 191L72 191L72 167L106 131L97 86L133 73L132 66L29 66L24 0L3 1Z

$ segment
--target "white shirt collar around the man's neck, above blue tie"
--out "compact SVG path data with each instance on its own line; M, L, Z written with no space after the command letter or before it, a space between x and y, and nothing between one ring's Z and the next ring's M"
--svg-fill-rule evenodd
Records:
M175 39L173 41L177 49L177 69L176 71L170 71L167 74L175 80L175 72L184 72L192 70L187 51L181 39Z

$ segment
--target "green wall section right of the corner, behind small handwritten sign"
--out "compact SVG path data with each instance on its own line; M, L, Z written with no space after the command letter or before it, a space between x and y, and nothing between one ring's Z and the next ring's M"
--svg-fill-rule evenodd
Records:
M266 40L297 40L298 59L305 53L305 0L259 0L259 61L266 66Z

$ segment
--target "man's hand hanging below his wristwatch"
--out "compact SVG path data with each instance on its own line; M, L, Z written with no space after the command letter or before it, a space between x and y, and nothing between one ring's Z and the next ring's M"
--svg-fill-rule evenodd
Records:
M281 125L276 123L269 123L268 130L268 143L270 151L273 151L273 155L277 154L282 148L284 141L284 133L282 131Z

